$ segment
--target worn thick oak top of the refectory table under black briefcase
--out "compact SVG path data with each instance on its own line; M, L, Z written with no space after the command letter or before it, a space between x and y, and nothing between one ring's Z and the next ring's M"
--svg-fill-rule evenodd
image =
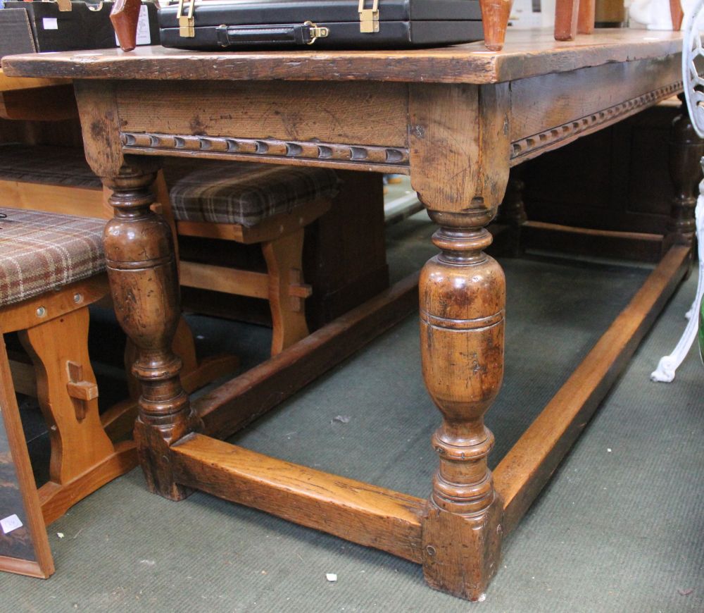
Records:
M325 80L495 83L681 52L681 32L596 30L572 42L552 31L508 32L503 51L482 42L405 51L183 51L164 47L5 56L20 77L148 80Z

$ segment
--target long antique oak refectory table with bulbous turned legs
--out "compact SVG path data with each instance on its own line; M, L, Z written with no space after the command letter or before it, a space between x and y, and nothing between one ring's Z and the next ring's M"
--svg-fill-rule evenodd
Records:
M494 474L484 414L503 376L505 280L484 254L509 168L681 91L678 32L551 32L415 51L9 56L8 75L74 80L87 159L113 190L106 227L118 319L139 347L135 437L146 481L197 488L422 564L430 586L477 600L527 510L689 266L700 142L672 147L669 249ZM683 111L686 113L686 111ZM695 151L696 149L696 151ZM161 156L410 175L439 225L420 273L422 369L441 412L429 500L222 442L413 309L415 280L189 403L170 350L179 316L169 226L150 209ZM688 166L689 164L689 166ZM683 170L683 168L685 170ZM693 171L696 184L696 170ZM689 181L689 182L688 182ZM677 183L679 182L679 183Z

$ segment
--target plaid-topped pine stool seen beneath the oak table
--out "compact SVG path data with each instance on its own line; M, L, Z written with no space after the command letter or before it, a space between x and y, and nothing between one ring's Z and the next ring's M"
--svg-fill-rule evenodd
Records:
M165 167L172 214L181 236L261 245L266 273L181 259L187 287L268 299L275 355L308 335L301 259L306 225L330 208L339 191L334 171L260 163L191 161Z

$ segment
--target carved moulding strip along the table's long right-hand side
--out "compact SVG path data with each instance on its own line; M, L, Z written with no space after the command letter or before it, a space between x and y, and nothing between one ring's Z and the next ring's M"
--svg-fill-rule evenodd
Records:
M572 140L583 132L593 132L605 125L615 123L629 115L641 111L647 106L653 106L659 101L669 98L681 92L682 82L672 83L654 89L652 92L643 94L637 98L631 98L621 104L610 106L603 111L591 113L591 115L575 119L568 123L555 126L545 132L522 138L511 143L511 164L512 166L524 160L531 159L543 152L543 149L552 149L561 141Z

